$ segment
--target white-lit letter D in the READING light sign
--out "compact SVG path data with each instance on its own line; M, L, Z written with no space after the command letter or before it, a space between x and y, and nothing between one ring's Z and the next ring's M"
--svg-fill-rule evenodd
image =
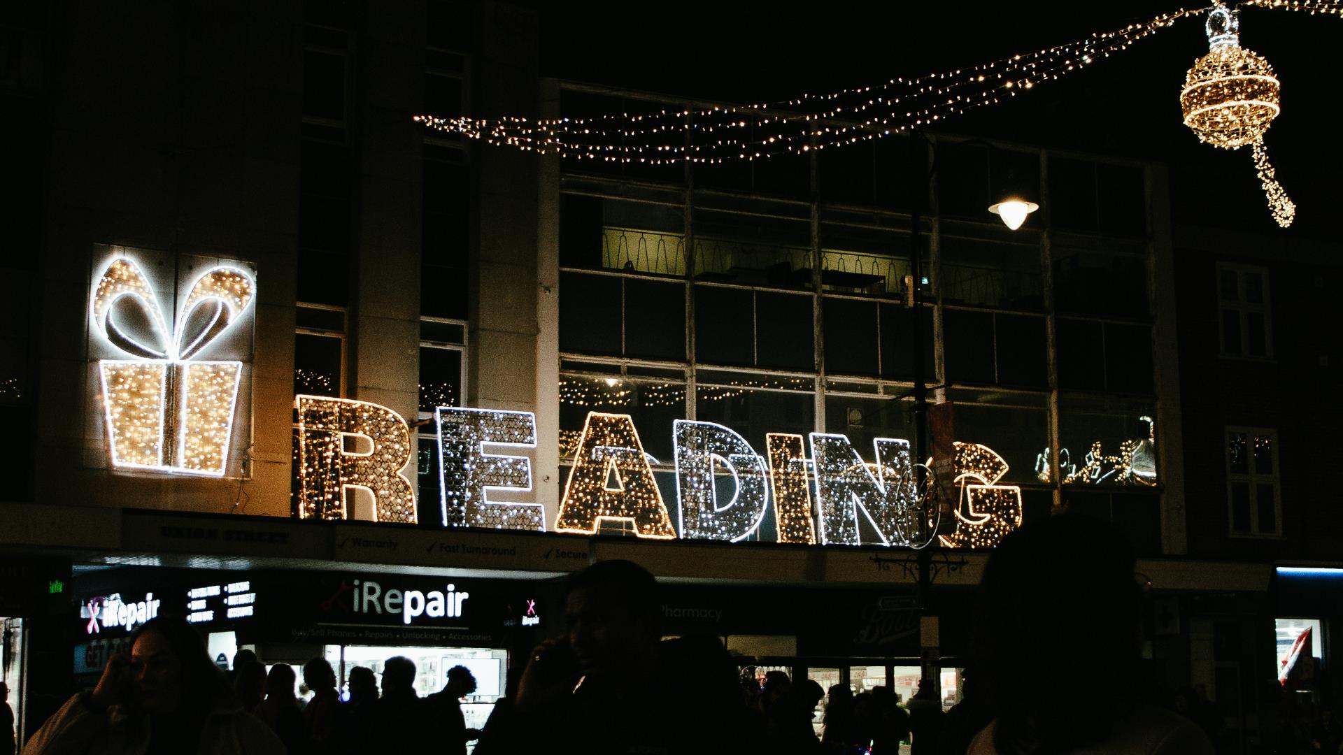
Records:
M677 419L676 486L681 504L681 537L736 543L760 527L768 504L764 462L737 433L713 422ZM719 505L714 463L732 476L733 492Z

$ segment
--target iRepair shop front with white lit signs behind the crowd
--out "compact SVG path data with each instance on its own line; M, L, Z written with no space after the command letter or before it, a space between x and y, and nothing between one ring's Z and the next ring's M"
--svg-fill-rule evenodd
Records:
M349 672L381 674L391 657L415 662L416 692L443 688L462 665L477 680L462 705L466 724L485 724L506 693L513 658L525 658L540 633L555 631L545 580L428 576L367 571L210 571L126 567L85 571L75 580L77 686L97 684L107 658L129 652L130 637L156 617L181 617L201 634L211 657L231 669L250 649L269 666L299 676L312 658L336 670L342 695Z

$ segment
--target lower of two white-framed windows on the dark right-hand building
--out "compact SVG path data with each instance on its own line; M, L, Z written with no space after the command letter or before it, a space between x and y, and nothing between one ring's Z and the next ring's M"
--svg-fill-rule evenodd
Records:
M1277 433L1256 427L1228 427L1226 496L1232 535L1281 535L1280 489Z

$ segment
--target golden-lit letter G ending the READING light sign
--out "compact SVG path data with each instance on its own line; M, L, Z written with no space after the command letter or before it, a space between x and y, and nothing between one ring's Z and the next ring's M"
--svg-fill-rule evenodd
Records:
M1021 488L997 485L1007 462L988 446L956 443L956 531L939 535L950 548L994 548L1021 527Z

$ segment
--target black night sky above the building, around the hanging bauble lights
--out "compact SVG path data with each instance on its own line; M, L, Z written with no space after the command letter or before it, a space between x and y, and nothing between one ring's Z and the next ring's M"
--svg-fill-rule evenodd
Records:
M608 3L543 8L548 75L728 102L776 101L974 66L1146 21L1174 3ZM1338 238L1334 208L1343 116L1330 64L1343 19L1246 8L1241 43L1283 82L1283 114L1266 136L1279 180L1297 202L1296 232ZM1207 51L1202 17L1176 21L1123 54L940 130L1170 163L1176 212L1226 196L1230 214L1273 230L1249 149L1202 145L1180 122L1185 71ZM1202 197L1195 197L1202 193ZM1183 208L1183 210L1182 210Z

